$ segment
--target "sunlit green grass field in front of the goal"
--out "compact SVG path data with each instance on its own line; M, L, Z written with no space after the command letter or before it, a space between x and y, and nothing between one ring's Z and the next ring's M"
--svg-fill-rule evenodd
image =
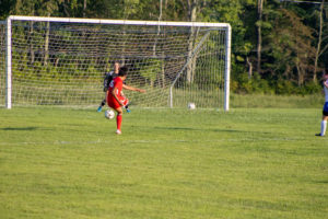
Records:
M0 108L0 218L328 218L320 108Z

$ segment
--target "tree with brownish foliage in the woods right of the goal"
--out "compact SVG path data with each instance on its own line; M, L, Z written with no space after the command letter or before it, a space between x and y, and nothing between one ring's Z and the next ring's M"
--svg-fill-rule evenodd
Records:
M312 46L312 28L305 26L294 12L281 9L271 36L270 50L278 78L295 80L303 85L312 78L315 48Z

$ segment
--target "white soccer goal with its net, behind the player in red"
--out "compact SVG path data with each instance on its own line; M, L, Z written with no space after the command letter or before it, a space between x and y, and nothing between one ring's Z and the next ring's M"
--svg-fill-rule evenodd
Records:
M97 106L119 61L147 90L126 92L131 105L229 111L230 24L9 16L0 31L7 108Z

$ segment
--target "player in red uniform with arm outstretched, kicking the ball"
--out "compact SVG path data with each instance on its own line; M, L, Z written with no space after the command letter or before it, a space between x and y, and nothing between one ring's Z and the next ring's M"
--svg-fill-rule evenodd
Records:
M145 90L142 89L124 85L124 81L127 79L127 76L128 76L128 68L121 67L118 71L118 77L116 77L109 83L108 93L107 93L107 104L117 113L116 115L117 135L121 134L120 126L122 120L122 107L125 107L129 103L129 100L122 95L121 90L126 89L130 91L138 91L140 93L145 92Z

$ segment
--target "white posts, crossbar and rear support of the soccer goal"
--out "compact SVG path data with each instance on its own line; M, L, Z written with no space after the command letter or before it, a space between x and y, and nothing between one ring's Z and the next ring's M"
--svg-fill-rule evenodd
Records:
M67 22L89 24L127 24L127 25L161 25L161 26L190 26L190 27L223 27L226 28L225 36L225 67L224 67L224 111L230 110L230 74L231 74L231 44L232 27L229 23L207 22L165 22L165 21L134 21L134 20L99 20L99 19L72 19L72 18L46 18L46 16L21 16L10 15L5 21L5 108L12 108L12 21L38 21L38 22ZM186 66L184 67L186 68ZM180 70L181 72L183 70ZM180 73L177 74L177 81ZM174 83L175 83L174 81ZM174 85L173 83L173 85ZM169 92L169 107L173 107L173 85Z

